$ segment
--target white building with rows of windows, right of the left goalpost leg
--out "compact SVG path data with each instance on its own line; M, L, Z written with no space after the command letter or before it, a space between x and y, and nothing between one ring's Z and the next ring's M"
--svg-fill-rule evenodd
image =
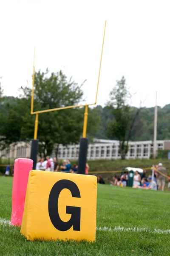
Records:
M170 149L170 140L157 140L158 149ZM127 159L146 158L149 159L153 154L153 142L136 141L129 142L129 151L126 155ZM69 145L67 147L59 146L59 159L78 159L79 145ZM119 141L116 140L94 140L93 144L88 145L88 160L95 159L119 159Z

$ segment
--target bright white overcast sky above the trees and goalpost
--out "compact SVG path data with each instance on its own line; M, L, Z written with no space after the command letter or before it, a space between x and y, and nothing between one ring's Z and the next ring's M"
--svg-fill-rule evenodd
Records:
M95 101L102 38L107 20L97 104L104 105L125 76L132 104L170 103L169 0L1 0L0 76L4 93L31 87L35 69L63 70Z

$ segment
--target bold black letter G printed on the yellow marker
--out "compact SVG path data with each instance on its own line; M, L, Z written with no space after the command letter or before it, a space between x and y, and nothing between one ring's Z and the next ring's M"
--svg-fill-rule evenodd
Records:
M62 189L68 189L71 192L72 197L81 198L79 188L71 180L59 180L57 181L51 189L49 198L48 198L48 213L50 216L50 220L53 226L59 231L67 231L73 226L74 231L80 231L80 215L81 208L66 206L66 213L71 214L71 218L69 221L62 221L59 217L58 211L58 199L59 194Z

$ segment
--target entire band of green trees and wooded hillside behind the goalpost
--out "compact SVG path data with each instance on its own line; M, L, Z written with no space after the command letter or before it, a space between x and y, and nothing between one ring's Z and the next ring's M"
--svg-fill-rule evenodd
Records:
M128 141L153 140L154 108L130 106L125 78L116 81L104 107L89 108L87 137L119 140L125 158ZM82 85L68 79L62 71L35 73L34 111L77 105L83 101ZM0 146L30 141L35 116L30 114L31 88L21 87L18 97L5 96L0 85ZM84 108L73 108L39 115L39 151L51 154L55 145L79 143ZM170 139L170 104L158 107L157 140Z

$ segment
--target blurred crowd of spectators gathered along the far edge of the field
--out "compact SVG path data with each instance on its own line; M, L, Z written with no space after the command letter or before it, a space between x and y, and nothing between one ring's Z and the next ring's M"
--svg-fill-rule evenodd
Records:
M78 165L75 163L73 166L69 159L63 160L61 166L57 161L57 158L51 158L47 156L46 158L41 158L36 164L36 170L48 171L48 172L70 172L77 173ZM89 165L86 163L85 174L88 175ZM154 173L153 173L154 172ZM12 175L14 173L14 164L12 169ZM120 177L114 175L112 180L110 180L111 186L122 186L126 187L129 179L129 172L125 171ZM5 176L10 175L10 164L6 167ZM152 189L152 190L161 190L164 191L165 180L167 177L167 171L162 166L162 163L159 163L156 166L153 166L152 172L147 177L147 173L144 170L142 175L138 171L135 172L133 176L133 188L141 189ZM105 180L101 175L97 176L97 182L100 184L105 184ZM168 189L170 191L170 176L168 178Z

